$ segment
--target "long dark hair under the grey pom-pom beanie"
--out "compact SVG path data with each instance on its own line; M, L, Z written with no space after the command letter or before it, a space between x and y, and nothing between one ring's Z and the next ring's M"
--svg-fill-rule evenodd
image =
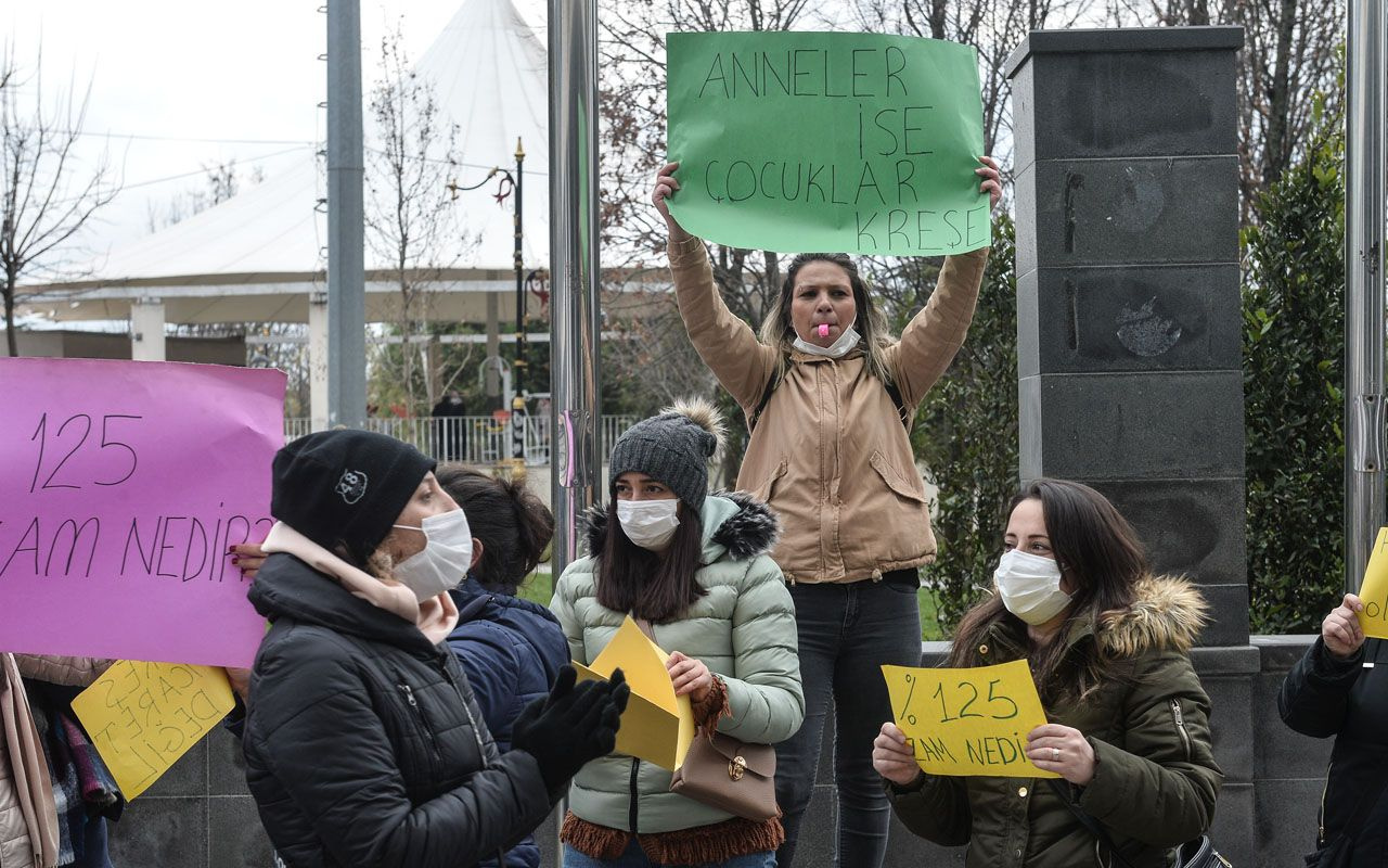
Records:
M608 499L607 536L597 553L598 604L632 612L651 624L679 621L694 601L708 593L694 575L704 554L704 521L680 503L680 526L663 551L633 543L616 517L616 496Z

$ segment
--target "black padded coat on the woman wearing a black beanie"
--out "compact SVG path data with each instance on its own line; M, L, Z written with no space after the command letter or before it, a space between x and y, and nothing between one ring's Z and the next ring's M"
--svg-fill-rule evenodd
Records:
M498 754L448 646L289 554L250 592L246 779L291 867L462 868L539 826L534 757Z

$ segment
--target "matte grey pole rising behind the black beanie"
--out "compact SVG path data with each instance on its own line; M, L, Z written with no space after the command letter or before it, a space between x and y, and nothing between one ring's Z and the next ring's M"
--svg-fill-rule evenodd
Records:
M328 425L366 421L361 4L328 0Z

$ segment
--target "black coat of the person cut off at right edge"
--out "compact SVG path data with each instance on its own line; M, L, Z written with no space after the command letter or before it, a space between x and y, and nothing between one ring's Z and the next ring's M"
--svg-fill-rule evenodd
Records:
M1360 799L1376 799L1362 828L1352 832L1351 864L1388 865L1388 797L1381 789L1374 793L1388 776L1388 642L1369 639L1349 660L1335 660L1317 639L1287 674L1277 708L1302 735L1335 736L1317 847L1345 831Z

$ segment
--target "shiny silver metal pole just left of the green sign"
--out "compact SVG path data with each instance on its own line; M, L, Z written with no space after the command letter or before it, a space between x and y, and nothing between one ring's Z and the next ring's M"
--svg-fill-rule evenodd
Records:
M550 0L550 376L554 571L602 492L598 403L597 0Z

